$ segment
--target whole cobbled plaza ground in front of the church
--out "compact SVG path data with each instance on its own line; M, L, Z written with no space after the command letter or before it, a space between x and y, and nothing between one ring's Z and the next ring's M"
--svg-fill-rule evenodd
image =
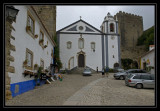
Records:
M124 80L115 80L99 74L63 74L56 80L14 97L6 106L154 106L154 89L136 89L125 86Z

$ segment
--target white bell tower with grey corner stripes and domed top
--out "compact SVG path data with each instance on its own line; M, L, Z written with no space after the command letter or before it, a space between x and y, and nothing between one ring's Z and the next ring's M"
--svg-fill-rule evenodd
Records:
M120 38L118 34L118 20L108 12L101 25L102 36L102 66L114 68L120 62Z

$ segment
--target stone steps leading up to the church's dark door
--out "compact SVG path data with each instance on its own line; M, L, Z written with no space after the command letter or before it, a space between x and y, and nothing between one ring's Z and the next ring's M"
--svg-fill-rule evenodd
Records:
M74 67L71 70L68 70L68 74L82 74L85 68L89 68L88 66L86 67ZM90 68L91 69L91 68ZM96 73L95 70L91 69L92 73Z

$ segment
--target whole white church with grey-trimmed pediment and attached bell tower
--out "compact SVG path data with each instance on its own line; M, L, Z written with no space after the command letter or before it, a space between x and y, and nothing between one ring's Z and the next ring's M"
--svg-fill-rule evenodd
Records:
M80 19L57 31L61 70L89 67L96 71L121 66L118 21L108 13L101 30Z

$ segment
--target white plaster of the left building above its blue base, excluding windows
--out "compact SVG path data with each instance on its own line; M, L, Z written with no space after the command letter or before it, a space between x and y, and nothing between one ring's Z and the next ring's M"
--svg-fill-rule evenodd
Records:
M34 79L34 77L24 77L22 74L24 70L22 67L23 61L26 58L26 48L33 52L33 66L36 63L40 66L40 59L42 58L44 60L44 69L51 63L51 49L53 49L53 43L51 43L48 34L32 10L30 10L30 13L35 19L35 34L38 34L37 39L32 38L26 32L27 7L15 6L15 8L19 10L19 13L17 15L16 23L14 22L12 24L15 31L12 31L11 35L15 37L15 40L11 39L11 43L15 45L16 51L11 51L11 55L14 57L14 62L10 62L10 64L15 67L15 73L9 73L9 76L11 77L11 84ZM42 49L39 45L40 29L44 32L44 45L47 45L48 41L48 47L45 49Z

